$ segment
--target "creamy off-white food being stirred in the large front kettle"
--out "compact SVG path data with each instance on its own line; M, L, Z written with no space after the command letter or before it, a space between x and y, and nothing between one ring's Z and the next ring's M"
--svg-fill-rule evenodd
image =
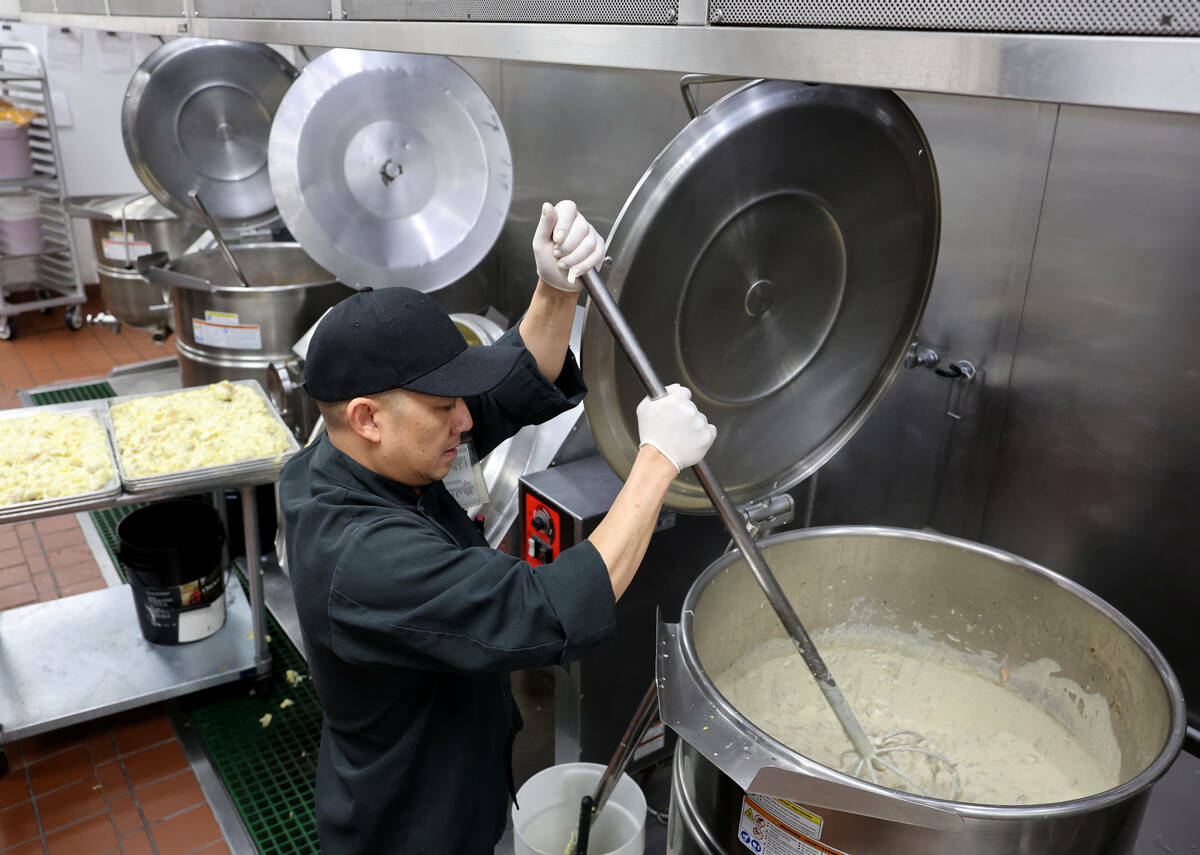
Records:
M1121 752L1108 704L1058 676L1049 659L1010 672L995 663L970 663L946 644L872 627L844 627L814 640L872 739L917 731L925 737L922 747L955 764L955 801L1042 805L1120 783ZM857 758L846 753L850 741L790 640L772 639L749 651L716 687L746 718L800 754L835 769ZM889 759L929 795L949 797L944 767L912 753ZM880 783L912 789L889 773Z

